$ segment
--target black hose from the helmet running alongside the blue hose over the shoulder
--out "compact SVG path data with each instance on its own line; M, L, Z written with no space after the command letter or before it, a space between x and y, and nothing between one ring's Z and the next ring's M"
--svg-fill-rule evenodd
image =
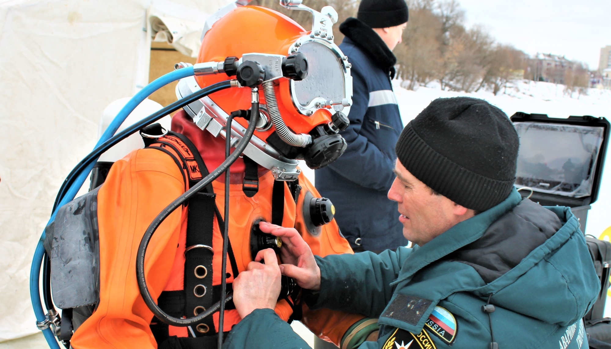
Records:
M164 116L168 115L169 113L174 112L175 110L178 110L186 106L187 104L191 104L194 101L197 101L197 99L210 95L210 93L218 92L220 90L224 90L225 88L229 88L229 87L231 87L230 80L218 82L214 85L204 87L201 90L195 93L192 93L191 95L186 96L185 98L178 99L178 101L175 101L174 103L170 104L169 106L164 107L163 109L159 110L158 112L152 113L148 117L131 125L129 128L126 128L125 130L119 132L118 134L115 134L111 139L104 142L103 145L98 146L98 148L93 149L93 151L89 153L89 155L87 155L84 159L82 159L81 162L79 162L78 165L76 165L76 167L73 168L70 174L68 174L67 178L65 179L64 183L62 184L62 187L59 189L59 192L57 193L55 203L53 204L53 212L57 208L57 204L59 203L59 201L61 201L62 198L64 198L64 195L66 194L68 189L70 189L70 186L75 181L76 177L78 177L78 174L81 173L81 171L84 170L84 168L86 168L89 164L91 164L95 159L100 157L102 153L110 149L115 144L121 142L123 139L126 139L129 135L133 134L134 132L138 131L139 129L144 128L144 126L147 126L148 124L153 123L154 121L157 121L163 118Z

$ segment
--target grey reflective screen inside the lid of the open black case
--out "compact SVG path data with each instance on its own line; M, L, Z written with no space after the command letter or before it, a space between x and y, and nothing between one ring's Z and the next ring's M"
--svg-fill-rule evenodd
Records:
M604 128L514 123L520 137L516 187L583 198L590 196Z

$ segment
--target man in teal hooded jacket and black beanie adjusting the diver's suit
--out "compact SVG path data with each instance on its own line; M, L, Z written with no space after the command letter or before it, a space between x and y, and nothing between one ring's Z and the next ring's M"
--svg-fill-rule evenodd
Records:
M273 311L282 274L310 309L370 317L341 348L587 349L582 318L600 282L584 234L568 207L522 200L513 187L518 146L497 107L434 100L401 132L388 192L415 246L314 257L294 228L260 224L281 237L285 264L261 251L265 264L251 262L235 279L243 320L227 348L307 348ZM278 291L252 294L270 285Z

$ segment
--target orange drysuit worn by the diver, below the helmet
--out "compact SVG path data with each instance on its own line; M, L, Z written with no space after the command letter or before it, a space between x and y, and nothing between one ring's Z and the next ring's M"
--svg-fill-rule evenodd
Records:
M172 119L172 130L188 137L199 150L208 168L214 170L224 160L224 140L195 126L185 112ZM171 138L171 137L170 137ZM176 137L174 137L176 138ZM71 346L86 348L156 348L150 329L152 312L142 300L136 281L136 252L150 222L169 203L188 189L185 174L192 168L181 169L172 156L157 149L137 149L115 162L98 192L98 225L100 231L100 301L97 309L71 338ZM238 270L246 270L251 259L250 234L258 218L271 221L271 198L274 177L260 167L258 192L251 198L242 189L244 162L238 159L231 167L229 240ZM348 242L340 236L335 220L323 225L320 234L312 236L305 228L302 205L307 192L320 197L314 186L299 176L302 190L295 202L285 188L282 225L295 227L309 243L314 254L352 253ZM224 212L225 185L213 182L216 205ZM188 210L178 207L156 230L145 257L145 275L153 298L162 291L184 287L185 244ZM225 219L223 217L223 219ZM213 225L213 285L221 284L222 234L214 218ZM227 271L231 271L227 259ZM227 283L233 282L233 275ZM304 324L320 337L338 344L348 328L362 315L334 312L327 309L309 311L305 306ZM276 305L277 314L288 320L292 313L286 300ZM188 316L192 316L188 314ZM218 312L213 314L218 328ZM235 309L225 311L224 331L230 331L241 318ZM185 327L169 327L170 336L187 337Z

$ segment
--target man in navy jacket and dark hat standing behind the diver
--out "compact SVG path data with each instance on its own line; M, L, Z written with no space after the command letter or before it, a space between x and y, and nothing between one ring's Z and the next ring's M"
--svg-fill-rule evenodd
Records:
M316 188L337 208L343 235L355 251L382 251L405 246L397 204L388 200L395 174L395 143L403 123L390 79L408 21L404 0L363 0L357 18L340 26L340 48L353 77L350 126L340 132L348 148L333 164L316 170Z

